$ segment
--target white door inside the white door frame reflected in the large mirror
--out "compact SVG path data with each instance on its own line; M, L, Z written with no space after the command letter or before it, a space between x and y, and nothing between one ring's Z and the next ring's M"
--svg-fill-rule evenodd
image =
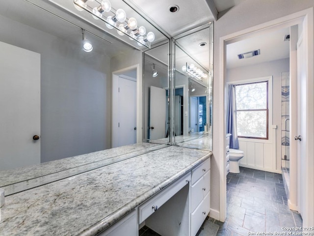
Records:
M119 77L118 147L136 143L136 82Z

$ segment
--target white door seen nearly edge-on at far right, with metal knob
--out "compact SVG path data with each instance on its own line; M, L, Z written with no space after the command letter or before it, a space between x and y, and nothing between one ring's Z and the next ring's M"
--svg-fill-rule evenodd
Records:
M307 89L306 89L306 80L307 80L307 68L306 68L306 47L304 38L301 36L297 44L297 67L298 67L298 76L297 76L297 106L298 106L298 133L295 136L300 137L294 142L297 144L297 163L298 163L298 208L301 215L305 213L305 203L306 203L306 136L307 130L305 128L307 118ZM300 135L300 136L299 136ZM297 138L295 137L295 138Z

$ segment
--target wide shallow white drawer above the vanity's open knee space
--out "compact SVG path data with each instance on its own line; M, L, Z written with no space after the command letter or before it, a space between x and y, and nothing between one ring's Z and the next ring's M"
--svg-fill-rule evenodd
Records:
M179 192L191 180L190 172L176 180L170 186L164 188L155 196L148 199L145 203L138 207L138 223L142 223L147 217L153 214L158 207L161 207L172 196Z

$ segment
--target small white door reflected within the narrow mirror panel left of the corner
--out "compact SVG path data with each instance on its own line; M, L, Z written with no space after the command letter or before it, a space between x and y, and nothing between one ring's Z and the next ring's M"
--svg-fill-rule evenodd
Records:
M157 140L166 137L166 89L151 86L149 139Z

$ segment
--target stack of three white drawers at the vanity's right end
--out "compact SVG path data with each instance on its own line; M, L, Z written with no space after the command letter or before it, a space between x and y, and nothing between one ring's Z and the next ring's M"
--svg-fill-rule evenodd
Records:
M192 170L191 236L195 236L210 209L210 158Z

